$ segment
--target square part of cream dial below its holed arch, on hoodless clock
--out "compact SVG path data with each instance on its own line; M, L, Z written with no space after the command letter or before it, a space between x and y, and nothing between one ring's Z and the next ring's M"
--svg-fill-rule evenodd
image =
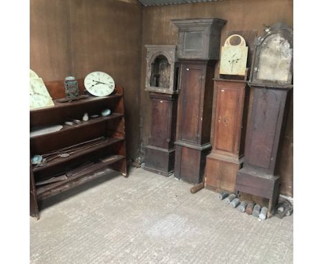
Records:
M245 75L248 48L245 46L222 47L220 74Z

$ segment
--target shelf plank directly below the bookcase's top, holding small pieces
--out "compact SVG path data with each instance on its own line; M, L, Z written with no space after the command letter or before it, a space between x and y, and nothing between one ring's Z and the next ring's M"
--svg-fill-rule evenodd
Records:
M52 133L47 133L44 135L35 135L34 137L31 137L30 140L37 140L38 138L43 138L43 137L52 137L53 135L57 135L59 133L65 133L66 131L72 131L74 129L79 129L80 127L83 126L90 126L92 124L96 124L96 123L100 123L100 122L105 122L107 120L113 120L113 119L117 119L119 117L123 117L124 115L121 113L111 113L108 116L101 116L101 117L95 117L92 118L88 121L82 121L81 124L74 124L73 126L68 126L67 124L63 125L63 129L59 130L59 131L55 131Z

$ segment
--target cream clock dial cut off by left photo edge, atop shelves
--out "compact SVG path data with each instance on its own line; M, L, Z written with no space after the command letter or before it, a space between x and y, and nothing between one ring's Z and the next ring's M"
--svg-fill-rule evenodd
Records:
M43 79L30 78L30 109L37 109L39 107L53 106L52 97L47 91Z

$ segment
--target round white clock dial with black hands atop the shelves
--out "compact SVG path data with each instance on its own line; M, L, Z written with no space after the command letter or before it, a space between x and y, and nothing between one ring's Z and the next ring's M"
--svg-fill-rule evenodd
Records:
M115 81L107 73L95 71L86 75L84 86L91 95L106 96L115 90Z

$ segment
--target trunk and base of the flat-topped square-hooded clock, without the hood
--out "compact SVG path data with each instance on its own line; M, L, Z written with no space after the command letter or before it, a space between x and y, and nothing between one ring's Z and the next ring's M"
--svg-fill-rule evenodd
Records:
M203 180L211 151L214 70L215 61L181 62L174 175L191 183Z

